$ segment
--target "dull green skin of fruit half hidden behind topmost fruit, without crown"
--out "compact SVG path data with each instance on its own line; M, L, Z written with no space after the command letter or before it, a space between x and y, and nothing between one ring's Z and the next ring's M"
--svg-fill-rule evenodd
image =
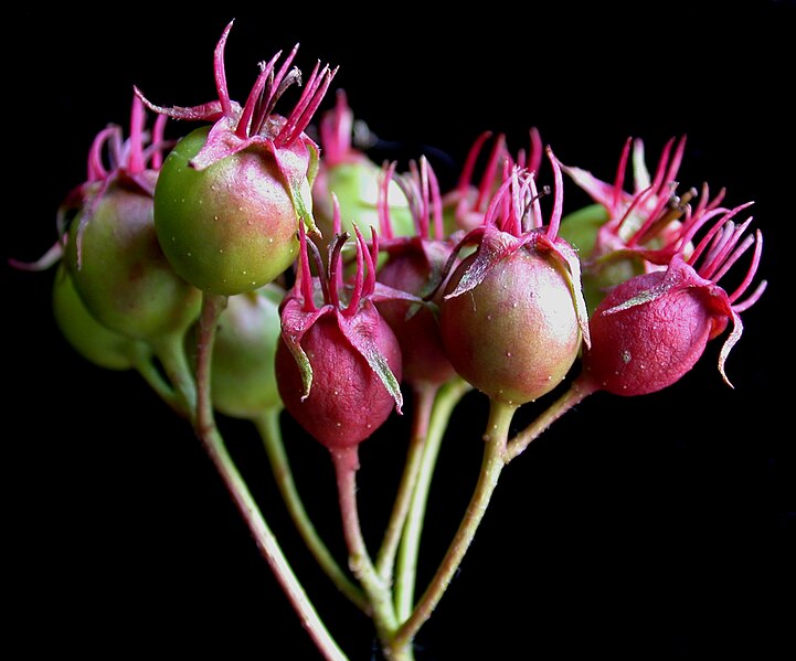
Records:
M152 184L157 172L141 173ZM171 268L155 232L152 198L109 182L73 220L64 259L89 312L110 330L140 340L183 332L199 316L201 292Z

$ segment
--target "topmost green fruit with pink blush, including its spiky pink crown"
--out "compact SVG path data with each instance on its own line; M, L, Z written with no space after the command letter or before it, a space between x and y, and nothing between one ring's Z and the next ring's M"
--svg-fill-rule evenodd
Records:
M283 274L298 255L299 223L316 231L310 186L318 147L304 132L335 74L317 65L293 113L273 111L291 83L296 46L263 63L245 105L230 98L224 49L215 49L219 99L193 108L150 108L177 119L212 121L166 159L155 191L155 226L174 270L202 291L234 296ZM140 95L140 93L139 93ZM141 96L141 98L144 98Z

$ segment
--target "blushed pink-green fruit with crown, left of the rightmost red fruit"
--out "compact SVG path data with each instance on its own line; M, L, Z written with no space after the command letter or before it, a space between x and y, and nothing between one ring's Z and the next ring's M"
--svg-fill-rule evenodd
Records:
M544 227L534 175L511 169L484 225L463 239L477 250L450 275L439 308L443 342L456 371L491 399L512 406L553 390L582 339L587 341L577 256L556 236L562 194L554 160L553 169L555 204Z

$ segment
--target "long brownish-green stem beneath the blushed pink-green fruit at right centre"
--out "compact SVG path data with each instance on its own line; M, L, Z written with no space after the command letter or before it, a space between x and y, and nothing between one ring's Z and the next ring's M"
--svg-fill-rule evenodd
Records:
M489 501L498 484L500 472L506 466L506 444L509 435L509 425L516 411L516 405L490 398L489 420L484 434L484 459L473 498L467 505L467 511L461 519L459 529L456 531L454 541L448 547L434 578L412 611L410 618L401 626L394 636L393 642L395 644L405 644L407 641L414 639L420 628L431 617L434 608L436 608L461 564L476 535L476 531L486 514Z

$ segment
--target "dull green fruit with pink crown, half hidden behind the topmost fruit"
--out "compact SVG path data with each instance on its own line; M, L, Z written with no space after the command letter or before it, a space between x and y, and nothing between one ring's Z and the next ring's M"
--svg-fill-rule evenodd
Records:
M200 291L171 268L152 218L162 122L151 145L145 109L134 98L130 135L100 131L88 156L88 181L73 194L64 259L88 311L107 328L140 340L183 332L199 316ZM108 150L110 168L102 162Z

